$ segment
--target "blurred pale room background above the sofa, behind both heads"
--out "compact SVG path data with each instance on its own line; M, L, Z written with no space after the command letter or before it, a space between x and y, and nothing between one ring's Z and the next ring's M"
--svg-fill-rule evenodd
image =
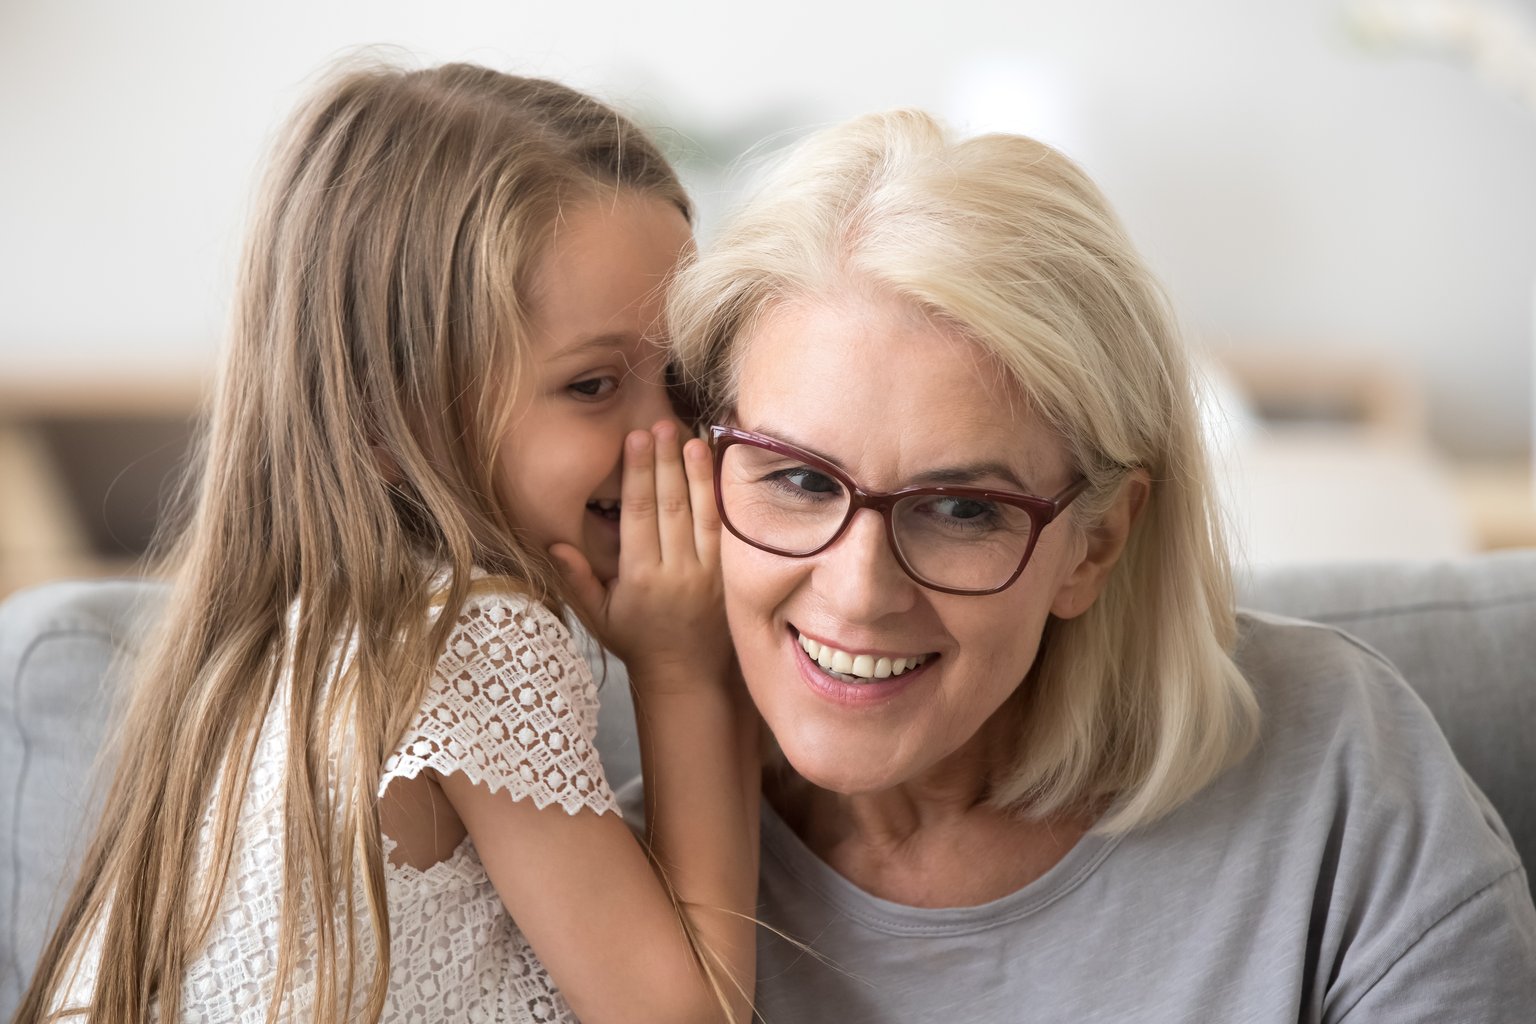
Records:
M364 45L630 111L705 244L817 124L1037 135L1201 352L1249 563L1536 545L1536 0L3 0L0 594L143 551L264 146Z

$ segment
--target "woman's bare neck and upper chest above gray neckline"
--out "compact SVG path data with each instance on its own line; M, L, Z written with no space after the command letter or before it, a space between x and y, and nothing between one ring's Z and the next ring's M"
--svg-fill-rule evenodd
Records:
M985 803L975 766L946 765L872 794L820 789L788 766L763 795L800 840L865 892L917 907L978 906L1035 881L1092 814L1026 818Z

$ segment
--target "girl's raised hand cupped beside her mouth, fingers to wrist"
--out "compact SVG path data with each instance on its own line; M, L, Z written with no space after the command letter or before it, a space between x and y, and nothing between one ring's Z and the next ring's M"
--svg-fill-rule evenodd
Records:
M710 445L679 442L671 421L625 438L611 583L574 547L550 548L598 639L647 689L717 686L731 660Z

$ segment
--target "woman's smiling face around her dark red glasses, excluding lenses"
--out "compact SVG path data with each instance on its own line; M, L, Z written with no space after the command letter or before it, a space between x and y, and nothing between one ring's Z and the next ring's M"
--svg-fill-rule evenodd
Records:
M1064 445L980 347L894 298L774 310L745 344L736 425L823 456L866 490L966 484L1051 496ZM1081 611L1086 540L1063 516L1008 590L943 594L903 573L885 525L859 511L820 554L791 559L725 534L727 611L746 686L811 783L869 794L968 771L1025 679L1046 616ZM849 682L802 645L922 659Z

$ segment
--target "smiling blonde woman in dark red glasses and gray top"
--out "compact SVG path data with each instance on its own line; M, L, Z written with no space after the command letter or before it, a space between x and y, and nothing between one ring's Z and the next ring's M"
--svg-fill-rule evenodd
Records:
M1072 163L854 121L670 313L782 752L768 1024L1531 1019L1519 858L1427 711L1233 611L1178 332Z

